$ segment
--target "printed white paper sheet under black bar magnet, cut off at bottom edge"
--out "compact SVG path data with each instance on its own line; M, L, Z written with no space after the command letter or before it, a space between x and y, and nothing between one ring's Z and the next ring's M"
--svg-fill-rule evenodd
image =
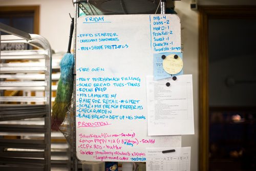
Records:
M190 147L146 148L146 159L147 171L189 171Z

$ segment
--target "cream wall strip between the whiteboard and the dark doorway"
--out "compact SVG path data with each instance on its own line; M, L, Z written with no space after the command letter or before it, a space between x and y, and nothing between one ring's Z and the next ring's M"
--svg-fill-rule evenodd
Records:
M175 11L181 20L181 42L183 44L184 74L193 75L195 135L182 136L182 146L191 146L190 170L198 170L198 11L190 9L190 0L175 2Z

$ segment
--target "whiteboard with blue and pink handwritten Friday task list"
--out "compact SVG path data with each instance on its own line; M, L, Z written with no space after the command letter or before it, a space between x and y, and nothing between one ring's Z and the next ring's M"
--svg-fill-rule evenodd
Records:
M146 147L181 146L181 136L147 136L146 107L154 53L181 52L177 15L82 16L76 43L79 160L145 162Z

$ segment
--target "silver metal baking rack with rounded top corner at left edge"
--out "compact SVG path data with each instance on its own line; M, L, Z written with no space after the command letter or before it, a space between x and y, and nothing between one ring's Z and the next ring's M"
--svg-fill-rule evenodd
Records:
M0 23L0 170L50 170L51 58L49 42ZM1 32L0 32L1 33Z

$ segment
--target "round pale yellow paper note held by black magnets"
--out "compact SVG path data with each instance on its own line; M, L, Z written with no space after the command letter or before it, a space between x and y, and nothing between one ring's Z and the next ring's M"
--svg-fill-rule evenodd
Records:
M178 74L183 68L182 59L178 55L178 58L175 59L174 56L175 54L170 54L163 60L163 69L168 74Z

